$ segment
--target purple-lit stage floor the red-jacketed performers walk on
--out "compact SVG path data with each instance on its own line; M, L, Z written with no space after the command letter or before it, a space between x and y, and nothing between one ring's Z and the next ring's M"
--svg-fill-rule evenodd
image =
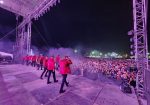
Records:
M25 65L0 65L0 105L139 105L134 93L124 94L117 85L75 75L68 76L70 86L59 94L61 75L56 73L58 83L51 77L47 85L41 73Z

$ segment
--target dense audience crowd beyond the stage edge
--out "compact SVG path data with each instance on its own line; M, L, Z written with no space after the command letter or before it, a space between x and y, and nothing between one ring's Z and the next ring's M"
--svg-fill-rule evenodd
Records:
M72 69L102 73L103 75L127 82L133 87L136 86L137 69L135 62L130 59L94 59L83 58L80 59L82 63L72 65Z

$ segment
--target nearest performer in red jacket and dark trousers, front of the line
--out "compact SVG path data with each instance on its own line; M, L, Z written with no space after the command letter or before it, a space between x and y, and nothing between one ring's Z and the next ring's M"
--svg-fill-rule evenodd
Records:
M59 93L65 92L65 90L63 90L64 84L66 84L66 86L69 85L66 79L67 75L71 73L70 64L72 64L72 61L68 56L65 56L65 58L60 61L60 74L62 74L63 78Z

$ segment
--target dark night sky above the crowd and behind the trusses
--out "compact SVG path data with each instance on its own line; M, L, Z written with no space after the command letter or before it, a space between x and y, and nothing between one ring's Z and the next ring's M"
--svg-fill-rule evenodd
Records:
M132 0L61 0L33 22L32 44L128 53L132 19ZM15 16L0 9L0 28L7 28L0 34L15 24Z

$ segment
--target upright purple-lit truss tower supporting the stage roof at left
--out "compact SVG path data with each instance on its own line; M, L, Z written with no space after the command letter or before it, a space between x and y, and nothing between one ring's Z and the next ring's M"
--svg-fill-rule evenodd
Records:
M17 18L18 21L18 18ZM18 61L23 55L30 54L31 44L31 21L16 30L15 60Z

